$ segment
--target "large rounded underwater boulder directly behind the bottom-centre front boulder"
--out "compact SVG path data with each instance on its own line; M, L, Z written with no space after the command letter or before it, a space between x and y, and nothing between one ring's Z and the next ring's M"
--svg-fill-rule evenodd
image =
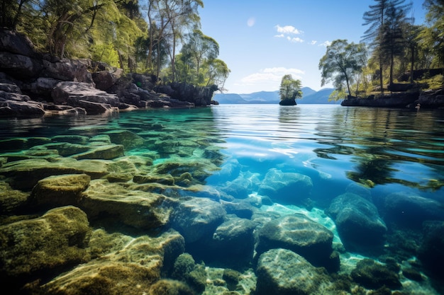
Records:
M268 221L257 233L257 255L284 248L298 253L316 267L338 270L333 253L333 233L304 214L292 214Z

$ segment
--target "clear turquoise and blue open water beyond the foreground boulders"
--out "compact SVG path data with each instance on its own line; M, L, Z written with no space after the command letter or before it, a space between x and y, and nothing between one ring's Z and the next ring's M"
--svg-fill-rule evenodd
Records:
M320 216L350 185L365 190L382 211L387 196L399 192L444 207L444 112L439 110L217 105L111 117L1 119L0 126L0 141L22 138L28 143L35 138L92 137L125 129L146 142L126 148L126 156L150 156L154 164L210 161L220 170L205 171L200 180L235 199L260 197L258 185L270 170L306 175L313 183L306 195L289 193L282 196L282 204L273 199L274 204L257 207L282 214L303 209L332 231L332 221ZM9 142L1 142L0 158L18 151ZM241 189L228 188L233 183ZM430 214L427 210L418 214ZM443 220L440 212L431 216Z

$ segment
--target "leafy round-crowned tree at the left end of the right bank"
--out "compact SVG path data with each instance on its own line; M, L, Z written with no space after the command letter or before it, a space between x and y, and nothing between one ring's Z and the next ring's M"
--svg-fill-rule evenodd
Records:
M342 90L343 83L347 86L348 95L351 96L350 84L353 76L359 73L365 66L365 50L362 45L348 44L347 40L334 40L327 47L326 54L319 61L321 70L321 86L333 81L333 86Z

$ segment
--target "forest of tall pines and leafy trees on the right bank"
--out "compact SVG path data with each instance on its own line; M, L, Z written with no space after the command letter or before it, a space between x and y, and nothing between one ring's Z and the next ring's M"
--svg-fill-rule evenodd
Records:
M374 0L363 16L362 42L331 42L318 65L322 85L336 88L331 98L443 87L444 1L423 2L423 25L414 24L411 6Z

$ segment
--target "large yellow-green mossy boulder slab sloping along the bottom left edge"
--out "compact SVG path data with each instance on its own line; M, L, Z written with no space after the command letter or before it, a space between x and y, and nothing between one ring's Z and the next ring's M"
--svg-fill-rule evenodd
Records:
M91 236L91 248L106 249L110 244L113 248L100 259L45 282L34 294L150 294L162 272L184 251L184 238L176 231L157 237L95 232Z

